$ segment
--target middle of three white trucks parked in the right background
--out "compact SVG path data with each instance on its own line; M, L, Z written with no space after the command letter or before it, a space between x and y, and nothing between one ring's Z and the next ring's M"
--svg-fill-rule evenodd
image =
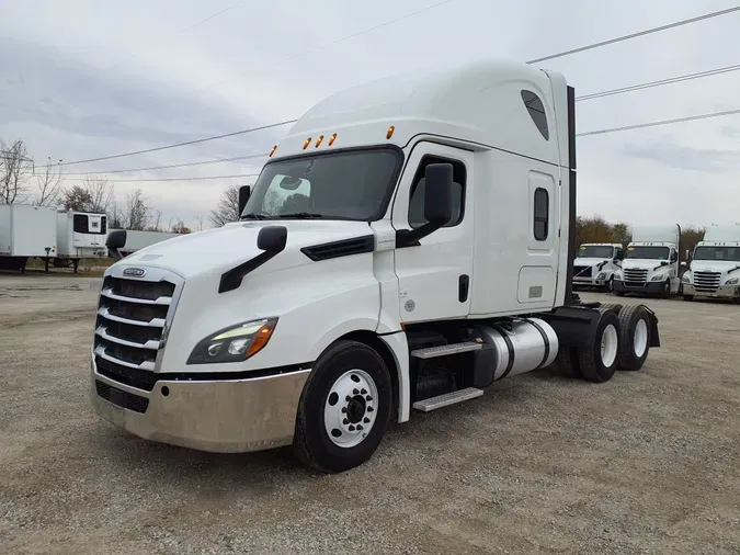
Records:
M614 293L669 298L681 288L679 247L681 226L635 226L633 237L614 276Z

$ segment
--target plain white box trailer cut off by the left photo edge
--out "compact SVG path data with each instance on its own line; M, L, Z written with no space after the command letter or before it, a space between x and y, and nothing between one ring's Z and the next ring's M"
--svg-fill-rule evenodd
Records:
M27 204L0 205L0 269L25 272L30 258L57 256L57 211Z

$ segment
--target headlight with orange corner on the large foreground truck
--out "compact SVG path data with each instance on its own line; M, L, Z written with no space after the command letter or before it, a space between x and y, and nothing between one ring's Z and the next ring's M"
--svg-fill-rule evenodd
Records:
M277 318L265 318L224 328L198 342L187 364L246 361L267 344L276 324Z

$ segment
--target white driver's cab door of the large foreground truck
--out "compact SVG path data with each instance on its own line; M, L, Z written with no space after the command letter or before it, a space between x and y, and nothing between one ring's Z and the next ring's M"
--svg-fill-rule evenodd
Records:
M453 217L420 239L396 249L400 314L403 322L466 317L473 291L473 154L422 141L409 157L396 194L394 228L418 228L424 219L424 171L430 163L453 165Z

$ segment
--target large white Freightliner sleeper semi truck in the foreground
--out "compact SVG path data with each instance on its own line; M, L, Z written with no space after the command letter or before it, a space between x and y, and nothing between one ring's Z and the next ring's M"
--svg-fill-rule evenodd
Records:
M341 472L390 419L558 361L639 370L641 304L581 303L574 92L486 60L339 92L274 148L241 220L105 273L91 400L149 440L215 452L293 444ZM109 235L115 258L122 231Z

